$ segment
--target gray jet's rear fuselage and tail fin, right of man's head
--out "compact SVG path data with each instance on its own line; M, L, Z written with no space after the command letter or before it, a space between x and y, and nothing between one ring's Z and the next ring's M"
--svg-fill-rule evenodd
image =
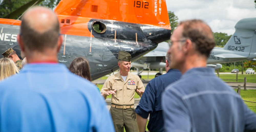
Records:
M256 58L256 18L245 18L235 26L236 31L223 47L212 49L208 66L220 68L221 64Z

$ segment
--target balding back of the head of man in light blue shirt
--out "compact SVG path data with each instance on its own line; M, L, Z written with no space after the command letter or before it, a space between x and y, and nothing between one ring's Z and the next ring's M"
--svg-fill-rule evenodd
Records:
M58 18L50 9L38 6L24 14L20 35L27 50L44 52L56 48L59 34Z

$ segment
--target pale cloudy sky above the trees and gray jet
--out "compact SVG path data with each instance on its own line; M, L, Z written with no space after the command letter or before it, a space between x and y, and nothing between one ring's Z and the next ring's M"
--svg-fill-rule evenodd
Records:
M228 35L234 34L239 20L256 17L254 0L166 0L166 5L178 21L202 19L213 32Z

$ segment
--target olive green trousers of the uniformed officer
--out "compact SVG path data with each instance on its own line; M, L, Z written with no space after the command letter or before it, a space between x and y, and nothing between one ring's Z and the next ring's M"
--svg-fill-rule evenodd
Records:
M112 116L116 132L123 132L124 128L127 132L138 131L134 108L120 109L111 107L110 114Z

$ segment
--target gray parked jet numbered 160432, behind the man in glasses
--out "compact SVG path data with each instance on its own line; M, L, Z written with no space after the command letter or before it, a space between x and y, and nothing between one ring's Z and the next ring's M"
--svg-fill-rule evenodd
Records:
M223 48L212 49L207 66L216 70L222 67L219 63L228 63L256 58L256 18L245 18L235 26L236 31ZM163 43L163 44L162 44ZM166 42L159 43L157 48L132 63L137 68L137 74L143 69L165 68L166 52L169 49ZM139 69L142 69L141 71ZM156 75L161 75L161 70Z

